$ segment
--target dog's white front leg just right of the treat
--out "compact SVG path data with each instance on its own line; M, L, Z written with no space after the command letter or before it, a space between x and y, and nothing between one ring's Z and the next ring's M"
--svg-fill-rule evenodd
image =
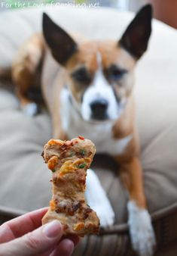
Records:
M86 186L87 202L100 219L102 227L111 226L114 223L114 211L108 200L105 190L99 182L98 176L93 170L87 170L87 186Z

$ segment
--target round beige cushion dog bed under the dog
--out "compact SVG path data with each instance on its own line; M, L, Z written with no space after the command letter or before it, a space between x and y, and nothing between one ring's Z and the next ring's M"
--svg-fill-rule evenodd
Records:
M108 8L60 7L47 12L67 30L93 39L118 39L133 17ZM17 47L40 30L41 10L2 14L0 21L3 71L11 66ZM136 69L135 95L145 194L160 248L177 238L177 229L173 229L177 223L177 33L157 21L153 28L148 53ZM5 84L3 80L2 83ZM2 88L0 123L0 204L21 211L47 205L51 195L50 172L40 155L51 136L50 117L46 111L36 117L25 116L14 95ZM127 192L111 161L99 158L93 167L113 205L115 225L102 232L102 236L85 238L75 255L121 255L130 251Z

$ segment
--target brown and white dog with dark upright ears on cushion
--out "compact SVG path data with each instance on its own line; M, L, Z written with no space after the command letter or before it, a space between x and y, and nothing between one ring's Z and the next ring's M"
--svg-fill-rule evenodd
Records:
M53 136L84 136L95 143L97 152L117 161L130 195L130 237L141 256L153 254L155 238L143 189L133 85L136 62L146 51L151 35L151 16L151 5L146 5L114 42L69 36L44 14L43 35L32 36L23 45L13 67L17 93L27 114L37 111L28 92L38 83L39 71ZM88 173L87 200L99 214L102 226L114 223L114 211L92 170Z

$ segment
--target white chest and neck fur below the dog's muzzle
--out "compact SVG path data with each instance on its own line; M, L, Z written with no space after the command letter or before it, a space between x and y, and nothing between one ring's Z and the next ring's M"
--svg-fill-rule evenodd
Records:
M77 136L84 136L87 139L91 139L96 145L97 153L120 155L132 139L132 135L123 139L114 139L112 137L111 121L108 123L90 123L83 120L69 101L69 92L67 89L63 89L61 92L60 111L63 130L69 139Z

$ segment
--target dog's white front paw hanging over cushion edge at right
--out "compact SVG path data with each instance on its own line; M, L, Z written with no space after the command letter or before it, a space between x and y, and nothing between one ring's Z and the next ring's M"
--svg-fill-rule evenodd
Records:
M127 208L133 249L139 256L152 256L156 240L148 211L140 209L135 201L129 201Z

